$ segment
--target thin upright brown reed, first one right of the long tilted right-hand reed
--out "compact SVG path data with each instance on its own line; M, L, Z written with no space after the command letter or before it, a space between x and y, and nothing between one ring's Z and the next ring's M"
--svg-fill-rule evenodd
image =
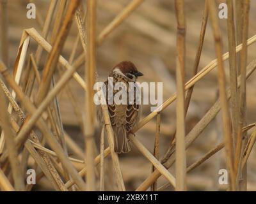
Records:
M239 119L239 104L238 104L238 92L237 92L237 59L236 59L236 31L234 23L234 8L233 1L228 0L228 51L229 57L229 72L230 72L230 109L231 109L231 121L232 121L232 138L234 147L236 147L236 136Z

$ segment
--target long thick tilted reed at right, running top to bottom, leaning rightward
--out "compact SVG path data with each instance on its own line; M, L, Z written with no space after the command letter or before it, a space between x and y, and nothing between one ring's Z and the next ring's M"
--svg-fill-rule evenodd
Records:
M215 42L215 52L218 60L218 84L220 90L221 101L221 115L223 122L223 135L225 138L225 150L226 150L226 162L227 168L230 173L230 189L234 191L236 189L236 175L234 171L234 147L232 142L232 133L230 129L230 116L228 110L228 101L226 93L225 83L225 71L222 61L222 41L220 34L220 27L218 25L218 16L216 11L216 4L214 1L208 1L209 14L211 18L212 31Z

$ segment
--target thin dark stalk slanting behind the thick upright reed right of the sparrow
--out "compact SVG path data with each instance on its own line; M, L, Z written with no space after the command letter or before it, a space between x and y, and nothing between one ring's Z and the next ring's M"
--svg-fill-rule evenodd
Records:
M204 7L204 13L203 13L203 17L202 17L202 25L201 25L201 30L200 30L200 38L199 38L199 43L198 43L198 48L196 50L196 57L195 57L195 62L193 65L193 77L196 75L196 73L198 72L198 65L200 62L200 57L202 54L202 48L203 48L203 44L204 44L204 37L205 37L205 31L206 31L206 25L207 25L207 21L208 21L208 8L207 8L207 1L205 1L205 7ZM188 108L189 108L189 103L193 94L193 89L194 89L194 85L192 85L189 89L188 92L186 94L186 99L185 99L185 113L188 113ZM175 133L173 135L176 134L176 130ZM172 143L174 142L175 138L173 137L173 140L171 142L170 147L168 148L168 150L166 150L166 153L164 154L164 157L162 159L163 162L167 161L170 157L170 154L172 154L171 150L172 150Z

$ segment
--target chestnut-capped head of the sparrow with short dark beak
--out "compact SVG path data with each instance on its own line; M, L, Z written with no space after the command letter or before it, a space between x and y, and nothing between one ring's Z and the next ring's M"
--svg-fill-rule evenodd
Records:
M117 64L114 68L113 71L116 73L123 75L126 77L129 81L136 82L138 77L143 76L143 73L138 71L136 66L129 61L123 61Z

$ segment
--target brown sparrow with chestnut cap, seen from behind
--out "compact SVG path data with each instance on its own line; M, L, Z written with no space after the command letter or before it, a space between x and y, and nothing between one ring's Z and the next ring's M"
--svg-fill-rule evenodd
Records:
M109 103L110 98L108 96L108 80L104 82L106 85L106 102L108 105L109 118L111 121L111 126L113 128L113 133L115 137L115 152L127 153L131 150L129 146L129 140L127 138L128 134L138 124L141 116L141 105L136 104L136 91L134 90L134 99L132 103L129 103L129 83L135 83L138 77L143 76L143 73L138 71L136 66L130 61L123 61L114 66L114 68L109 73L108 77L113 78L113 87L115 87L116 82L123 82L126 86L127 94L127 103L125 104L116 104L115 100L112 100L113 103ZM118 90L113 90L113 98ZM140 97L140 96L139 96ZM104 124L102 120L101 109L98 108L98 120L101 124Z

